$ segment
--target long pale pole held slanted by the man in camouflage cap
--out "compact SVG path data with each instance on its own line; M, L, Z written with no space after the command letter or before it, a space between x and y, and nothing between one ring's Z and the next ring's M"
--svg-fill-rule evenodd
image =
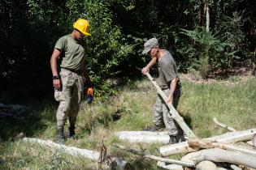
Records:
M153 83L154 87L156 87L158 94L163 98L164 101L167 100L167 96L164 94L162 89L158 86L158 84L154 81L149 73L146 73L146 76L150 79L150 82ZM189 129L189 126L184 122L183 117L180 117L180 114L173 108L172 104L167 104L167 107L170 109L171 117L180 125L180 128L184 131L189 138L197 138L193 131Z

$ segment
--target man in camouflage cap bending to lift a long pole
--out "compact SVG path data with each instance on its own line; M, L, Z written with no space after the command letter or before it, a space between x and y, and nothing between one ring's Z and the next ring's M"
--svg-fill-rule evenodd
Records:
M150 67L158 62L159 77L157 83L167 96L166 102L172 104L174 108L177 108L182 89L176 69L176 62L171 56L171 53L166 49L159 49L158 40L156 38L151 38L145 42L142 53L149 54L152 59L141 72L146 74L149 72ZM176 121L173 121L167 105L159 95L154 104L153 114L154 128L150 131L159 130L164 123L170 135L170 143L178 142L180 138L183 139L183 131L180 129L180 126L177 125Z

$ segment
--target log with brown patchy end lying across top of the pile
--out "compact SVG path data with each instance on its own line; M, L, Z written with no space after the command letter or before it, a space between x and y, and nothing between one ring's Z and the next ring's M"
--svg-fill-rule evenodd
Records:
M256 151L254 150L249 150L246 148L238 147L238 146L223 143L223 142L210 142L209 140L206 140L206 139L195 139L195 138L189 139L189 147L200 147L204 149L220 148L228 151L240 151L241 153L244 153L244 154L256 156Z

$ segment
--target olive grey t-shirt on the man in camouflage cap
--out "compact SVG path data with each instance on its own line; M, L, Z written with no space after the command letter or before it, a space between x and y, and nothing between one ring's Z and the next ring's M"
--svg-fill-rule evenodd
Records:
M174 61L171 53L163 49L165 54L158 61L158 85L162 89L167 89L170 87L170 82L172 79L178 77L178 72L176 68L176 62Z

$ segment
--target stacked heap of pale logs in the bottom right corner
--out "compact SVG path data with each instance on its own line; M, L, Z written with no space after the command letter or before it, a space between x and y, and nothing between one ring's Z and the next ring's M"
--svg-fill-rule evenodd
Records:
M216 118L214 121L216 125L231 132L211 138L189 138L186 142L160 147L161 155L187 154L180 160L195 164L198 170L218 169L215 163L229 163L232 169L240 166L256 168L256 148L245 143L252 141L256 129L236 131Z

